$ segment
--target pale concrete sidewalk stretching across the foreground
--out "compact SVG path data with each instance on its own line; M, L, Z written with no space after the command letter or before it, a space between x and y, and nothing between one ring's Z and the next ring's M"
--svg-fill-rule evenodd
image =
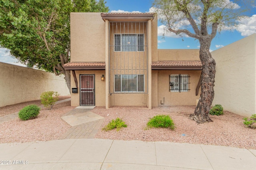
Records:
M0 144L0 169L254 170L256 150L188 143L61 139Z

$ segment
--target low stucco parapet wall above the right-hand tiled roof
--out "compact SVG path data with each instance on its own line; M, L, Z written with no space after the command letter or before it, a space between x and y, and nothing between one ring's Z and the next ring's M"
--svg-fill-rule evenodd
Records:
M200 61L199 49L158 49L158 61Z

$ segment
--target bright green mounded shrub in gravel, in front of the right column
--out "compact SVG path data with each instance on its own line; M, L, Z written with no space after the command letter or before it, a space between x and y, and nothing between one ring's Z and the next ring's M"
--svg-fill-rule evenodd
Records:
M156 115L148 121L148 127L164 127L174 130L175 125L169 115Z

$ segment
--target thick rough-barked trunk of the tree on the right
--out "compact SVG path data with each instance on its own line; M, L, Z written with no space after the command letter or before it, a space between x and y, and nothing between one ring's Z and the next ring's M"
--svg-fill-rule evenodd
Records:
M201 95L199 102L193 114L190 115L190 119L197 123L205 123L212 121L209 117L209 111L214 99L214 78L215 78L215 60L210 53L209 39L203 39L200 41L200 60L202 62L202 74L201 74Z

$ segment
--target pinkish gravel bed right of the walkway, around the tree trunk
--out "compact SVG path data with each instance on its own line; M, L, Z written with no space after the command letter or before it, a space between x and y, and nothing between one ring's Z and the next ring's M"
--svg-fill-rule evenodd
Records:
M195 106L156 107L151 110L139 107L95 107L92 111L105 121L101 129L112 119L122 118L128 125L120 131L98 131L95 138L140 141L170 141L175 143L194 143L222 145L246 149L256 149L256 129L244 127L243 116L224 111L224 115L210 115L213 122L198 124L188 117ZM170 115L175 130L146 128L150 118L155 115Z

